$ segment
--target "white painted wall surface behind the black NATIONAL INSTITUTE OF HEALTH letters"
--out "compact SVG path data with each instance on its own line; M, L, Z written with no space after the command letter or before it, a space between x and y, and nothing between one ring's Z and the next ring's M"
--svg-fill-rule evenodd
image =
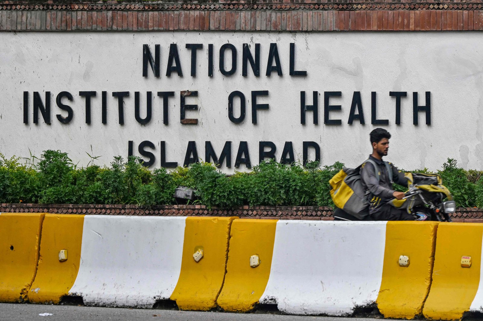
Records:
M483 43L478 32L2 32L0 34L0 151L6 156L28 157L29 151L40 156L45 149L69 152L74 162L86 165L89 157L101 156L98 164L109 164L113 156L128 154L128 140L137 145L152 141L159 166L159 141L166 141L167 160L183 163L187 142L197 142L204 158L204 142L212 142L219 154L225 141L232 141L232 164L240 141L248 141L252 164L258 162L258 142L272 141L280 159L285 141L292 141L296 157L301 158L302 142L315 141L322 151L322 165L340 160L356 166L370 153L370 92L378 97L378 117L388 118L385 126L393 135L387 160L405 169L428 167L436 170L446 158L459 161L465 168L483 169ZM238 68L232 76L218 72L218 50L222 44L238 49ZM180 49L184 77L166 77L170 43ZM190 51L186 43L202 43L198 54L198 76L190 76ZM208 44L214 44L215 73L207 76ZM261 73L249 71L241 76L243 43L261 44ZM269 43L277 43L284 76L265 76ZM297 69L307 77L288 75L289 43L296 43ZM161 44L161 77L142 77L142 44ZM199 119L199 125L179 121L179 91L198 90L198 111L187 117ZM227 97L240 90L248 101L250 90L269 90L269 110L258 112L258 124L251 123L250 102L241 124L228 120ZM60 91L74 96L74 117L70 124L57 121L60 109L55 98ZM92 124L85 124L84 99L79 91L95 90L92 100ZM108 124L100 120L101 91L108 91ZM313 125L307 113L307 125L300 124L300 91L317 90L319 124ZM341 91L332 99L341 104L341 112L331 117L342 119L340 126L323 124L323 92ZM23 124L23 91L30 92L30 123ZM52 125L32 123L32 92L52 92ZM130 91L125 100L125 125L117 123L117 100L113 91ZM134 91L153 91L153 118L145 126L134 119ZM175 91L170 100L168 126L162 123L162 101L156 91ZM354 91L362 92L365 126L347 119ZM401 125L395 125L395 99L389 91L407 91L402 101ZM421 113L420 125L412 124L412 92L431 91L432 125L426 126ZM142 94L142 110L145 106ZM194 102L190 100L189 102ZM66 101L65 101L66 102ZM62 113L60 113L62 114ZM64 113L65 115L65 113ZM222 170L230 173L234 167ZM239 170L245 170L242 165Z

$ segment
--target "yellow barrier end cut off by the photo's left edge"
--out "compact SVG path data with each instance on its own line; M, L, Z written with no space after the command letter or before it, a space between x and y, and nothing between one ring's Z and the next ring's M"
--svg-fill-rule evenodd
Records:
M22 302L39 259L44 213L0 214L0 302Z

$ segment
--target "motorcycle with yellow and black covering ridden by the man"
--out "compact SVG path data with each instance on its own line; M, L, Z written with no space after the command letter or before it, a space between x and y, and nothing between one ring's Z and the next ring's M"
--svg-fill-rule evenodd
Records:
M456 204L450 191L442 184L440 175L405 173L409 190L402 200L392 199L388 203L396 208L405 208L409 214L425 214L426 220L451 222L451 213L456 211ZM368 221L369 215L358 219L340 208L335 207L334 220Z

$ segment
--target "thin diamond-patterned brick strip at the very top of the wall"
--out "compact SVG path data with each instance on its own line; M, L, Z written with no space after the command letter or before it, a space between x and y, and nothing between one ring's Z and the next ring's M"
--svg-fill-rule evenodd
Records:
M198 0L198 1L0 1L1 10L478 10L483 0Z

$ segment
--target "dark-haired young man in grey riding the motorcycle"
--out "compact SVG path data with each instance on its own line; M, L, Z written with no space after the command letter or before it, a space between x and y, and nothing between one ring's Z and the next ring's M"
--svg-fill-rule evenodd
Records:
M369 190L369 218L371 220L425 220L426 215L424 214L413 216L406 209L399 209L387 203L393 198L402 200L404 197L403 192L393 190L393 182L389 179L389 173L383 161L383 156L387 155L389 149L389 138L391 138L391 134L383 128L376 128L370 132L372 154L369 155L369 160L376 164L376 168L371 162L366 161L360 170L362 186L364 190ZM394 183L404 187L408 186L404 173L401 173L391 163L389 163L389 169L392 172ZM379 174L379 180L376 171Z

